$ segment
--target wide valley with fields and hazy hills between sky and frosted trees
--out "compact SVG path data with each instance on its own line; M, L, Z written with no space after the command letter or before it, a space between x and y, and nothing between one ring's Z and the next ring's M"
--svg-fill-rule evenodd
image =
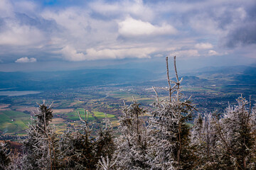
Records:
M154 80L155 77L149 79L149 75L146 76L147 79L140 79L140 77L144 77L144 74L149 74L149 72L144 71L144 74L140 76L138 74L137 78L131 78L131 81L126 82L122 80L124 74L127 77L133 77L136 72L121 73L119 76L115 74L117 77L114 80L113 78L111 78L112 80L106 79L107 83L102 82L102 79L95 80L93 84L87 84L87 81L81 80L79 86L73 86L73 77L65 81L65 86L55 80L53 82L56 84L54 88L49 84L44 84L45 78L39 79L37 84L33 84L29 80L31 77L28 80L23 80L31 84L33 91L29 91L28 86L7 86L8 83L5 84L4 82L8 82L8 79L0 79L2 88L0 89L1 139L17 140L18 137L26 135L27 125L33 118L33 111L38 107L36 103L43 103L43 100L46 100L48 105L53 102L54 117L51 124L55 125L56 131L59 133L70 125L80 123L78 111L83 115L85 110L89 112L89 120L95 121L96 129L102 127L102 120L106 113L114 130L116 130L119 125L118 117L122 114L122 107L124 106L123 101L129 104L135 98L144 108L151 110L151 103L156 102L155 93L151 87L168 85L166 80L162 78L165 73L158 74L161 79ZM191 96L192 103L197 109L194 112L195 115L198 112L218 111L223 113L228 103L235 104L235 99L241 94L247 100L252 95L252 103L255 103L254 73L231 72L230 69L229 72L220 72L218 69L214 69L210 72L204 70L203 72L185 73L184 76L181 75L183 77L181 83L184 94L183 100ZM98 74L99 77L103 77L102 75ZM53 77L55 77L54 74ZM110 74L109 77L113 77L113 75ZM48 79L51 78L48 77ZM60 84L61 88L58 88L57 84ZM42 86L44 86L43 89L41 89ZM161 99L164 99L167 91L159 90L158 94Z

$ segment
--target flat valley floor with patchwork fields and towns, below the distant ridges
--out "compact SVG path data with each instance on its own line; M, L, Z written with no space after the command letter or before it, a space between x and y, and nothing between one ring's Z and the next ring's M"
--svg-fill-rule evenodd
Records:
M248 95L255 94L256 86L234 86L234 85L209 85L206 86L184 86L182 100L186 100L192 96L191 100L198 109L198 112L218 111L222 112L228 106L228 102L235 104L235 98L243 94L246 98ZM158 90L159 101L164 99L166 91ZM50 96L52 95L52 96ZM12 97L7 98L3 106L6 105L6 111L0 111L0 132L7 135L18 133L24 135L27 124L30 121L30 108L35 108L38 103L42 103L41 98L46 98L46 104L49 106L53 103L53 122L51 125L56 126L58 132L63 132L70 124L79 125L80 118L78 111L80 111L82 119L85 118L84 108L89 111L89 121L95 121L97 127L100 127L102 120L110 118L114 128L119 125L117 117L122 115L123 100L127 106L132 103L133 98L137 103L146 109L151 109L150 104L156 102L154 91L149 91L144 86L134 89L79 89L79 91L54 91L51 93L36 94L32 97ZM253 97L253 96L252 96ZM38 99L39 98L39 99ZM63 99L62 99L63 98ZM252 98L255 101L255 98ZM23 109L21 109L23 108ZM25 109L24 109L25 108ZM26 110L27 109L27 110ZM18 112L18 111L24 111ZM196 112L195 112L196 113ZM145 115L147 116L147 115Z

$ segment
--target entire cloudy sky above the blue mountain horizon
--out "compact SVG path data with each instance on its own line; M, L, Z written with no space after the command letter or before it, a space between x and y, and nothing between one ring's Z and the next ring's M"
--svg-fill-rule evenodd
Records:
M255 0L0 0L0 71L103 67L176 55L256 63Z

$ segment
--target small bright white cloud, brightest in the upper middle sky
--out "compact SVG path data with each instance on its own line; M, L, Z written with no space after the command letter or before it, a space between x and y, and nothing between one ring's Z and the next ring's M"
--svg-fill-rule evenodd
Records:
M162 26L154 26L149 22L135 20L131 17L119 22L118 26L119 34L124 36L172 35L177 33L177 30L169 24L164 23Z

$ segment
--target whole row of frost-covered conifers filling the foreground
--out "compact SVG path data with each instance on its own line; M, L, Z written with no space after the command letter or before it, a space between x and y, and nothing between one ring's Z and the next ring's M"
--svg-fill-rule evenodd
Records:
M110 118L90 121L85 108L79 125L58 134L50 125L53 105L38 103L22 152L0 145L0 169L256 169L256 108L242 95L225 111L199 113L182 92L183 78L152 87L155 102L144 108L124 102L117 131ZM165 98L159 93L166 91ZM84 114L83 114L84 113ZM97 132L95 132L97 128Z

